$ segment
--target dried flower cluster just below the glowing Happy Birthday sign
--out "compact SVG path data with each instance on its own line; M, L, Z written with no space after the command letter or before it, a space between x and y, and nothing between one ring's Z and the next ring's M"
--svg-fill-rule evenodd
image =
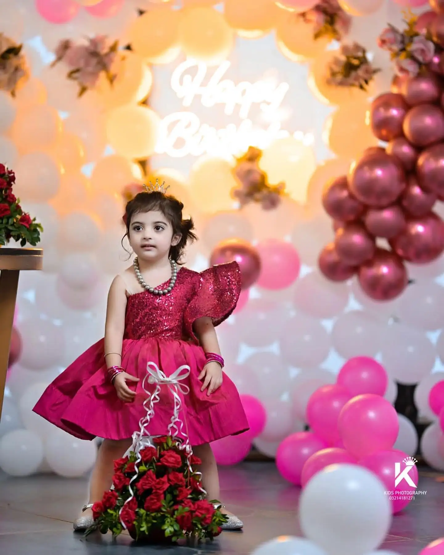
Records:
M285 183L270 185L265 171L259 168L262 150L249 147L248 151L237 159L233 173L239 186L231 191L231 196L238 200L240 206L250 202L260 203L264 210L276 208L285 193Z

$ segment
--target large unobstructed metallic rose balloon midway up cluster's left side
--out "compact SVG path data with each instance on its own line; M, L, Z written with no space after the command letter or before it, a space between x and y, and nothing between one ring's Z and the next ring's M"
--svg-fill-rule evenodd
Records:
M384 208L393 204L406 186L401 162L389 154L373 154L351 166L349 187L358 200Z

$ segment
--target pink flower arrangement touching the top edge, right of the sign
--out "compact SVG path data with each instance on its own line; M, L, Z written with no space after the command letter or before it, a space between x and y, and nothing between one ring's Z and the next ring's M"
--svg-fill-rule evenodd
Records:
M341 41L350 29L351 17L344 12L337 0L321 0L307 12L297 14L297 17L312 25L315 40L327 37Z

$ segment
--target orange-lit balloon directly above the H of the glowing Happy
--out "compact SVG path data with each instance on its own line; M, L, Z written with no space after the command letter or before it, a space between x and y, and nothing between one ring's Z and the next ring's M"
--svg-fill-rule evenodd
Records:
M208 7L183 10L179 38L186 56L206 63L225 59L234 45L234 31L223 14Z

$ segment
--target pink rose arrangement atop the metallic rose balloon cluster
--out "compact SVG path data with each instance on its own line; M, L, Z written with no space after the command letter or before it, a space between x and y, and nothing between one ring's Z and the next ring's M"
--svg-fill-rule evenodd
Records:
M387 52L400 77L416 77L420 70L430 64L437 47L428 31L416 30L417 16L408 14L407 28L400 31L389 25L378 38L378 46Z

